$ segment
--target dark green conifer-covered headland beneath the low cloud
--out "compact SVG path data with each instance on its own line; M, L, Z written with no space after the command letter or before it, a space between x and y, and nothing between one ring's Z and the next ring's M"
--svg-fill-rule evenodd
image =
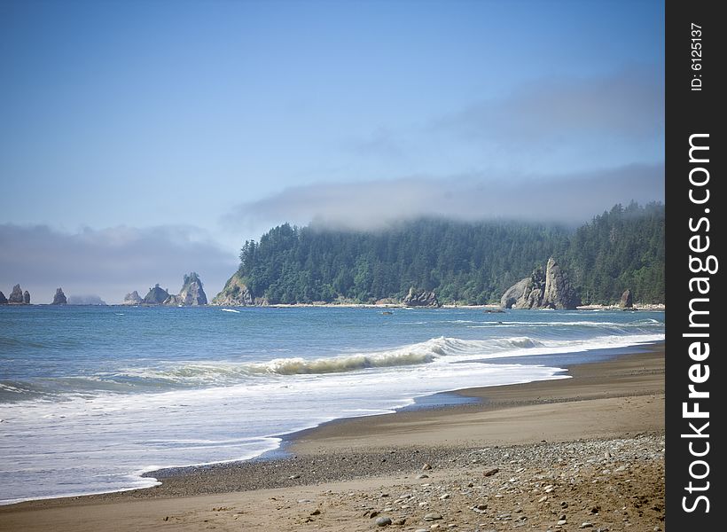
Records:
M614 206L573 228L515 221L420 219L380 231L285 223L246 241L220 295L246 303L401 301L410 287L442 303L499 301L512 284L556 257L584 304L663 303L664 206ZM219 297L219 296L218 296Z

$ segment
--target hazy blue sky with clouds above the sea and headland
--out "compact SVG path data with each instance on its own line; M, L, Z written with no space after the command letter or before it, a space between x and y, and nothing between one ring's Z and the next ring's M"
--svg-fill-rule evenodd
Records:
M274 224L547 217L497 210L524 186L569 223L661 200L663 32L644 1L3 0L0 290L214 293ZM148 263L26 274L47 239Z

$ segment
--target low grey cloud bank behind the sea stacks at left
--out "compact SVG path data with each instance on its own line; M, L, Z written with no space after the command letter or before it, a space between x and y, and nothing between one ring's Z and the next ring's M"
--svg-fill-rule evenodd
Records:
M192 270L211 299L238 265L206 231L186 226L66 233L6 223L0 224L0 249L0 290L8 295L20 283L36 303L51 302L59 286L66 296L97 294L109 303L132 290L144 297L155 283L176 293Z

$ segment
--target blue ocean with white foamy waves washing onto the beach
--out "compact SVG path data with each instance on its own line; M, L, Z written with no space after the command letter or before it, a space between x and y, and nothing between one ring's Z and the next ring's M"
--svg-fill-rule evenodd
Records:
M0 504L150 487L143 473L664 339L664 312L389 311L0 307Z

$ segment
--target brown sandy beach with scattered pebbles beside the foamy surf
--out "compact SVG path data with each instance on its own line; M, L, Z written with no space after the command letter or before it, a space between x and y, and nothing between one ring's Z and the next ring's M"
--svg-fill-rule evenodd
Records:
M664 528L664 346L478 403L328 423L282 458L0 507L0 530Z

